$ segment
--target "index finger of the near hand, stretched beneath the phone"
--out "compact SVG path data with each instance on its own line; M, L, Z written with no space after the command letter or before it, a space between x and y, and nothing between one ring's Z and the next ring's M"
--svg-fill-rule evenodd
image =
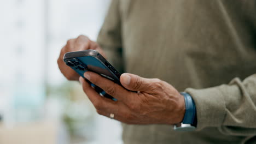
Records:
M102 88L107 94L118 100L127 101L132 97L132 92L127 91L117 83L108 80L96 73L86 71L84 73L84 77L86 77L86 79L88 79L90 82L94 83L94 85Z

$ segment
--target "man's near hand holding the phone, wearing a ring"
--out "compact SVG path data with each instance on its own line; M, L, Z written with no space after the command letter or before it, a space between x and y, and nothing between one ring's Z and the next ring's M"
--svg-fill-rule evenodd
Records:
M98 74L86 71L86 79L101 87L113 101L101 97L83 77L79 81L84 92L100 115L128 124L176 124L182 122L185 113L184 98L170 84L159 79L145 79L133 74L122 74L119 86ZM138 91L137 93L131 91Z

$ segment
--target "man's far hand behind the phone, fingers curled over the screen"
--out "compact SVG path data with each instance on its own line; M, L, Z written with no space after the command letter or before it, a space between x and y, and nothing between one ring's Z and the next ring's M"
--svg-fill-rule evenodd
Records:
M106 58L104 55L103 50L101 47L95 43L95 41L90 40L88 37L84 35L79 35L76 39L69 39L67 44L61 49L60 56L57 60L59 65L59 69L61 73L68 79L68 80L76 80L78 81L79 75L70 67L68 67L65 62L63 62L63 56L66 52L73 52L73 51L83 51L83 50L96 50L101 53L103 57Z

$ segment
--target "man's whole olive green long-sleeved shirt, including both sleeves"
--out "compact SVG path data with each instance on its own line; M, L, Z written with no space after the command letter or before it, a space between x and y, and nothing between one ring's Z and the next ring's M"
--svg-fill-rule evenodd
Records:
M196 104L196 131L123 124L125 144L256 143L256 1L114 0L97 41L120 71Z

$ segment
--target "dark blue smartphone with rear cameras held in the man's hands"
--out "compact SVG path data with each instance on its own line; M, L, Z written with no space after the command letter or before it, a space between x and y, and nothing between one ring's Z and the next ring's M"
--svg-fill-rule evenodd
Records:
M100 74L103 77L106 77L109 80L120 83L121 74L97 51L95 50L84 50L84 51L75 51L75 52L67 52L64 55L63 61L75 70L80 76L84 77L84 73L86 71L92 71L94 73ZM84 77L85 79L85 77ZM102 97L106 97L112 100L117 100L113 98L111 95L107 94L100 87L94 85L89 80L88 81Z

